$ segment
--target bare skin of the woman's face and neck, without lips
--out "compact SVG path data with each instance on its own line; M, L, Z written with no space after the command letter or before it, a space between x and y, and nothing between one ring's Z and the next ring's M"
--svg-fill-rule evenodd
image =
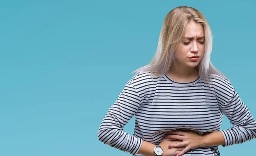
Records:
M182 42L177 47L175 64L166 75L177 82L192 82L199 77L198 69L195 68L204 55L204 28L200 23L190 22L187 24ZM199 58L192 61L189 57L197 55Z

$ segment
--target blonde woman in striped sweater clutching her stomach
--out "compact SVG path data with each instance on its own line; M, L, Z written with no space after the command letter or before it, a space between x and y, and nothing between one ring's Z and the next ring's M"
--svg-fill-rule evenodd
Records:
M99 128L99 140L135 156L219 156L256 138L256 122L210 61L212 33L191 7L170 11L151 62L136 70ZM233 127L221 130L222 116ZM134 135L123 131L135 115Z

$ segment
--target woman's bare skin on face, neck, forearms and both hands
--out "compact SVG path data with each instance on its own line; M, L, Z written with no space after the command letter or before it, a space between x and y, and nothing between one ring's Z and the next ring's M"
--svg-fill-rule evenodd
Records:
M182 42L177 47L176 67L171 68L166 75L176 82L192 82L199 77L196 68L204 54L204 28L200 23L191 21L187 24ZM198 59L190 59L197 56ZM160 143L163 156L182 156L191 149L205 146L225 145L224 136L220 131L199 135L195 131L174 130L166 132L166 139ZM139 154L154 156L155 145L142 141Z

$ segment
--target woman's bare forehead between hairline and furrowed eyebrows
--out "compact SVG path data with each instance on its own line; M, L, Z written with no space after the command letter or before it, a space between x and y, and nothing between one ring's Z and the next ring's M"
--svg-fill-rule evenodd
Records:
M204 28L200 23L189 22L184 31L184 37L204 37Z

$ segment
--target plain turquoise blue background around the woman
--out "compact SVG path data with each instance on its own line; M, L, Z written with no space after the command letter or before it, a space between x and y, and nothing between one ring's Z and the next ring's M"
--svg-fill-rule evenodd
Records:
M135 69L148 64L166 14L192 6L213 33L213 64L256 117L253 1L0 2L0 156L130 156L99 125ZM230 128L227 118L221 129ZM125 126L132 134L134 118ZM256 139L220 147L255 155Z

